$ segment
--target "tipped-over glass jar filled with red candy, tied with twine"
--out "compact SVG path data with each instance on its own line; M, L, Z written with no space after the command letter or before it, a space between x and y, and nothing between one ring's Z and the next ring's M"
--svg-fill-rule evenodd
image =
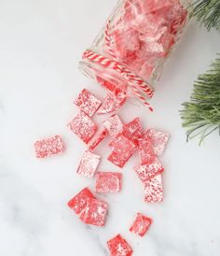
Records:
M186 0L119 1L80 68L105 89L125 91L149 106L147 99L186 27L188 5Z

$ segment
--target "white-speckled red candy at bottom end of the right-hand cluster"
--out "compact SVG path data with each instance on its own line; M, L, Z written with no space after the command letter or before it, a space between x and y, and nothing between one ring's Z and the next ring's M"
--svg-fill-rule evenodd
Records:
M163 201L163 182L161 175L148 179L145 182L144 201L148 203Z

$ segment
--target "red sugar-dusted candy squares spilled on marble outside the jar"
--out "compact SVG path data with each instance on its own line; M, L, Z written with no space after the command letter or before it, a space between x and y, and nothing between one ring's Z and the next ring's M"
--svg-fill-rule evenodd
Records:
M118 107L121 97L115 98L113 101ZM79 107L79 113L68 123L68 127L88 146L82 155L76 173L86 178L95 178L95 191L98 194L121 191L122 173L97 171L101 156L94 153L94 150L107 136L110 136L112 139L109 147L112 152L108 156L108 161L122 168L138 150L140 159L133 171L144 185L144 201L146 203L161 202L163 200L162 173L164 167L159 162L158 156L163 154L169 135L155 129L144 131L139 118L135 118L129 123L123 123L117 114L113 114L103 121L98 129L96 123L91 119L92 116L95 113L106 113L106 109L112 109L113 101L106 100L105 97L102 104L101 100L86 89L77 96L75 104ZM35 142L34 148L37 158L45 158L62 153L65 146L62 137L55 135ZM89 188L78 192L68 202L68 206L86 224L103 226L105 223L108 204L90 192ZM129 230L144 236L151 223L151 218L138 212ZM111 255L132 254L131 246L121 235L109 240L107 246Z

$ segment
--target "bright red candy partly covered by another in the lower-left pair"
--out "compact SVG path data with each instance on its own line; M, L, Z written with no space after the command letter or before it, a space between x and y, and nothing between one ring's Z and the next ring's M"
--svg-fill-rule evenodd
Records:
M76 214L79 214L87 206L88 197L95 199L92 192L90 192L88 188L85 188L68 202L68 206L73 209Z

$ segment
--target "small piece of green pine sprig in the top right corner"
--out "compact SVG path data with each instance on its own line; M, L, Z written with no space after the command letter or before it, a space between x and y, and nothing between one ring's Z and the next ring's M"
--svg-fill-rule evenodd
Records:
M220 29L220 0L197 0L193 4L191 16L206 26Z

